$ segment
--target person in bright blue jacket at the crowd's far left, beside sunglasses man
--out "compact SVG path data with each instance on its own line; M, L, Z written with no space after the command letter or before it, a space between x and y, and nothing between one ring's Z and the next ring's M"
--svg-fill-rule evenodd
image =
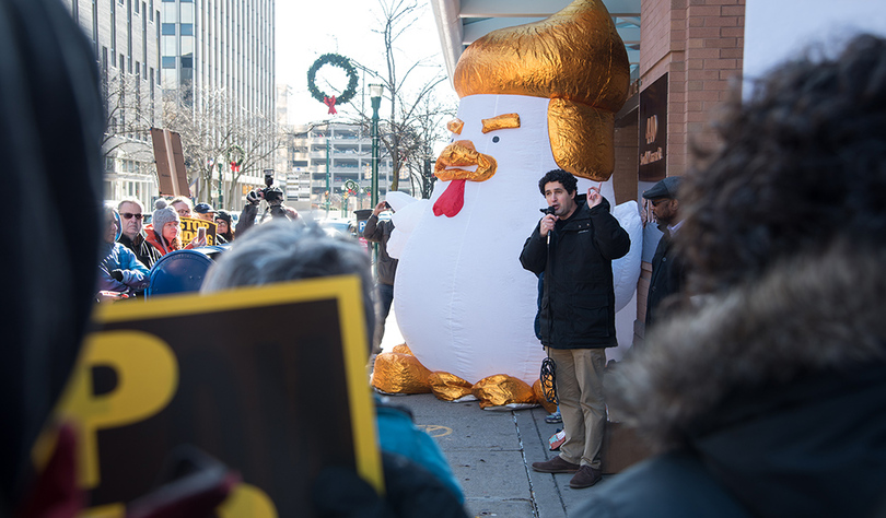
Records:
M116 242L120 221L117 211L105 208L105 238L102 243L102 260L98 264L98 291L132 296L150 284L148 267L141 263L129 248Z

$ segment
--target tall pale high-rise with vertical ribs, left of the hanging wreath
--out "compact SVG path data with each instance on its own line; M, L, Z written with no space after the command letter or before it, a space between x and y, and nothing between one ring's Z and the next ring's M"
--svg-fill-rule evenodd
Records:
M273 134L273 0L155 1L160 81L167 102L189 107L199 125L209 127L200 132L215 141L207 146L217 148L220 155L210 161L225 162L234 148L248 155L242 170L221 167L222 180L197 181L191 191L200 200L240 209L242 195L263 186L264 172L275 168L279 143L279 134ZM242 131L232 134L232 128ZM217 191L226 195L215 197Z

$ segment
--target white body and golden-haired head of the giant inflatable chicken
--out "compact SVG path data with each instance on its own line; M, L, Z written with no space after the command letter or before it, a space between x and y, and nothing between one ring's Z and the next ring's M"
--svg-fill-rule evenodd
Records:
M566 169L579 177L579 193L609 179L627 52L603 2L576 0L545 21L475 42L454 84L458 118L448 125L452 143L436 161L431 199L388 197L397 211L388 245L400 259L397 321L430 370L470 384L506 374L532 385L545 357L533 327L538 280L518 256L546 207L538 179ZM609 183L603 192L615 204ZM639 222L636 202L622 212ZM623 260L636 262L619 281L630 299L639 252Z

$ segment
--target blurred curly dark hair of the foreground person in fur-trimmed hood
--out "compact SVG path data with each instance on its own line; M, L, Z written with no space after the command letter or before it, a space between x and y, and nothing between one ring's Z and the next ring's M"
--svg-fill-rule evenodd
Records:
M734 92L684 178L677 240L690 289L753 281L774 262L886 236L886 39L861 35L835 58L788 62Z

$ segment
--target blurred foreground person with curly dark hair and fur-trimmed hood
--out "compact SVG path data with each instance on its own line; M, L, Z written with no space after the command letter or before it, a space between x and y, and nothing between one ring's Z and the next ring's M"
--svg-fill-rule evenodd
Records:
M684 177L688 289L607 384L661 454L578 516L884 516L886 40L736 93Z

